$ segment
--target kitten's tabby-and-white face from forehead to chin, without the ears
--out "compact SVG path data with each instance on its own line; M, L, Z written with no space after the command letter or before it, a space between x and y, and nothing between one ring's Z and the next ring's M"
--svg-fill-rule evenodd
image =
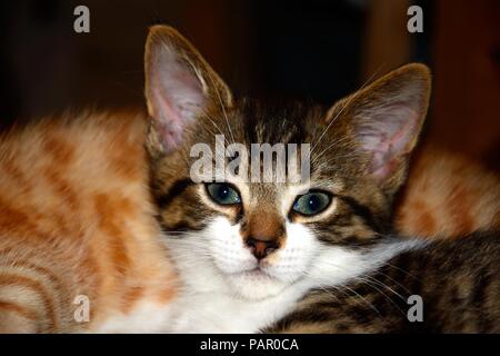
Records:
M226 113L234 140L248 148L254 142L313 145L324 129L313 125L320 122L318 108L287 108L282 115L287 112L288 117L273 121L267 108L256 106L257 102L243 102ZM287 130L281 129L282 122ZM311 125L303 126L304 122ZM217 125L222 129L224 119L220 117ZM193 142L207 142L214 149L210 126L200 125L196 131ZM339 144L330 147L334 141ZM344 268L360 264L363 247L377 240L373 231L383 230L389 211L388 198L380 187L357 169L363 164L362 156L352 152L349 146L334 137L320 141L311 156L309 190L301 184L248 182L249 179L232 177L223 184L194 184L190 180L189 168L194 160L189 156L190 145L176 155L162 157L154 171L177 167L174 175L161 176L166 178L157 182L161 185L157 190L159 200L166 201L160 211L163 229L167 236L170 233L177 239L167 245L179 246L180 258L190 251L192 263L200 268L206 268L204 264L214 266L232 293L249 299L277 295L304 279L314 285L324 283L327 276L340 280L349 275ZM179 181L186 181L187 186L179 189ZM240 202L221 205L210 195L210 185L232 189ZM323 210L304 216L293 209L308 192L328 195ZM363 214L360 206L369 207L366 209L370 212ZM264 241L261 255L252 240ZM176 255L176 248L172 254Z

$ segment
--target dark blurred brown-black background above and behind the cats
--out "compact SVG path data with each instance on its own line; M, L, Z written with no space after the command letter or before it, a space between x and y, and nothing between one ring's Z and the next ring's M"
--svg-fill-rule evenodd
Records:
M90 9L90 33L73 9ZM423 10L409 33L407 10ZM326 105L409 62L434 73L424 140L500 169L500 1L19 0L0 3L0 126L143 106L148 26L178 28L240 95Z

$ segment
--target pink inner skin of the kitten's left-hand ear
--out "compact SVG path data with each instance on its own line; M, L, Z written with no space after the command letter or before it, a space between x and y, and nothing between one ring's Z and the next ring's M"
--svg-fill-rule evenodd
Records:
M168 152L181 144L186 127L202 111L206 98L190 65L168 47L159 51L151 66L150 102L156 128Z

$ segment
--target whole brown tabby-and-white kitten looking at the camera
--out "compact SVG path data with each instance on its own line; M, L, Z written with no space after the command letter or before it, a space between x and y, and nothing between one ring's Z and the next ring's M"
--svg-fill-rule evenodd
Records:
M179 303L190 306L177 332L403 330L393 299L406 301L406 288L434 308L429 330L498 329L498 239L428 245L391 234L429 101L427 67L404 66L324 109L234 99L170 28L152 29L146 66L158 219L183 281ZM248 169L224 170L218 159L240 156L217 154L216 135L228 147L310 142L310 181L250 182ZM224 179L193 171L196 144L216 151L211 176Z

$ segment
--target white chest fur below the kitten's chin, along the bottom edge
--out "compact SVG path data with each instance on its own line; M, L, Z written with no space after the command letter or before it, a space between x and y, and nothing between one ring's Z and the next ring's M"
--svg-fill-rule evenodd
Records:
M216 291L186 293L168 305L141 303L127 315L116 315L91 333L253 334L286 315L294 294L249 301Z

